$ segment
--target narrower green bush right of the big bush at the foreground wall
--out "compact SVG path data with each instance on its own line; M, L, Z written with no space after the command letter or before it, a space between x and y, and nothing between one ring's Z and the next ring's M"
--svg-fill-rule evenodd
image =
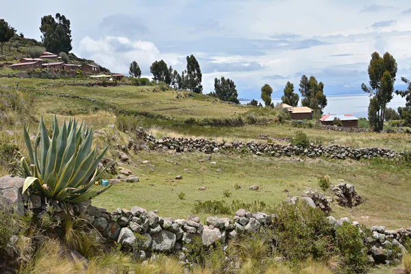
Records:
M364 273L367 268L366 248L360 229L343 222L336 227L336 247L343 257L343 267L355 273Z

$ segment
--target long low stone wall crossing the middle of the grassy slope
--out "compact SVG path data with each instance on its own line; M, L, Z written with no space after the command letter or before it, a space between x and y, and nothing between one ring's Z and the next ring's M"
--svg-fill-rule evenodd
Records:
M216 153L219 151L236 151L238 153L250 152L256 155L267 155L273 157L305 155L310 158L325 156L332 159L370 159L370 158L403 158L408 151L396 152L392 149L380 149L377 147L366 147L353 149L344 145L310 145L308 148L301 146L282 145L274 143L258 142L216 142L203 138L172 138L164 137L156 140L151 134L142 129L137 130L138 138L142 138L148 147L155 150L174 150L176 152L204 152ZM138 147L135 147L138 149Z

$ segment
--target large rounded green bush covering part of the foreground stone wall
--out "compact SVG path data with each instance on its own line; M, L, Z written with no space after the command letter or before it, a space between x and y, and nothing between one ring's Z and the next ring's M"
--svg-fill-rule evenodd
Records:
M292 262L309 257L324 259L332 255L329 244L332 225L319 208L311 208L298 201L296 205L284 202L275 212L275 249Z

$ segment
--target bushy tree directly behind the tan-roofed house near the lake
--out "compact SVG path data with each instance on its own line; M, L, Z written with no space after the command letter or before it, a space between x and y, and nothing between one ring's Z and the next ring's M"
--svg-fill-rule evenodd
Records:
M314 112L316 112L317 118L319 118L327 106L327 97L324 95L323 82L317 82L314 76L310 76L310 79L308 79L306 75L303 75L301 76L299 86L299 92L303 97L301 104L305 107L312 108Z

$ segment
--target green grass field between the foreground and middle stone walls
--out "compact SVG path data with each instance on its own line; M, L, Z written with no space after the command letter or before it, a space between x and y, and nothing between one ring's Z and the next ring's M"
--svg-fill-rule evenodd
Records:
M317 177L329 175L332 184L338 184L338 179L354 184L358 193L366 199L365 203L353 209L334 205L333 216L349 216L366 225L411 226L409 167L392 162L370 164L323 159L297 162L290 158L222 154L212 154L216 165L210 164L210 161L199 162L208 157L210 155L197 153L139 152L132 158L136 166L127 168L140 177L140 182L115 184L110 191L95 198L93 204L108 210L138 205L147 210L159 210L160 216L186 218L197 200L224 200L228 204L233 200L247 203L264 201L269 206L275 206L288 195L303 195L306 186L317 188ZM143 160L149 160L151 166L140 164ZM222 169L222 172L216 172L216 169ZM182 175L183 179L176 180L177 175ZM242 188L235 190L235 184ZM248 187L253 184L258 184L260 190L249 190ZM198 190L202 186L208 189ZM232 192L229 198L223 195L226 189ZM283 192L285 189L288 192ZM179 199L180 192L186 193L184 200ZM199 216L204 220L208 214ZM360 219L360 216L369 216L369 219Z

